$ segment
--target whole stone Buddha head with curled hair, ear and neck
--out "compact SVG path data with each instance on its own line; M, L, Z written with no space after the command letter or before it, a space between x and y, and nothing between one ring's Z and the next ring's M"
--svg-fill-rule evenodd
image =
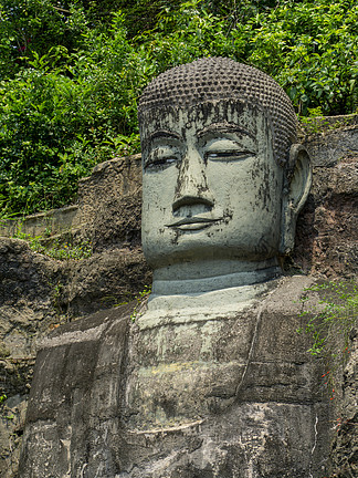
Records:
M310 186L284 91L254 67L208 58L155 79L138 115L143 247L156 293L276 277Z

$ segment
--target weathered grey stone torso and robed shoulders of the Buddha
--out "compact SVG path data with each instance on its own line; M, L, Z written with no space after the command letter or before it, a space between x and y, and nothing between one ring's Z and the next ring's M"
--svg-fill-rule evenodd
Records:
M295 332L309 283L285 279L253 308L186 328L144 333L128 305L56 329L38 356L19 475L322 476L320 365Z

